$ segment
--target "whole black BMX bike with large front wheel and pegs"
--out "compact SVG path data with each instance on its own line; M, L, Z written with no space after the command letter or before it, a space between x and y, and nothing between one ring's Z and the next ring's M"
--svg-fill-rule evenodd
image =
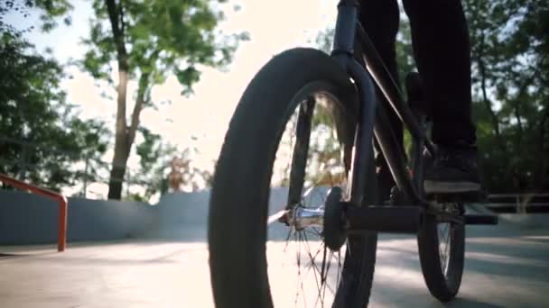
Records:
M447 302L461 285L465 225L497 223L466 214L455 196L424 194L437 149L421 81L409 75L405 102L357 16L356 1L341 0L330 56L284 51L237 105L209 203L217 307L366 307L378 232L417 234L424 281ZM412 136L410 159L388 108ZM387 203L377 196L374 140L395 180Z

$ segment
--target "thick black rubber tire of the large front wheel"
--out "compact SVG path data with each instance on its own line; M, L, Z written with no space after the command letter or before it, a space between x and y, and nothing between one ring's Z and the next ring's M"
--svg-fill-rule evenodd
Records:
M287 50L253 78L237 105L216 167L209 203L209 267L217 307L272 307L265 256L269 184L293 97L311 85L338 98L354 138L358 114L356 89L328 55L312 49ZM352 130L349 130L352 128ZM373 160L368 175L375 192ZM372 204L375 194L368 194ZM345 259L335 307L368 305L377 234L354 235L353 258ZM348 263L349 259L349 263Z

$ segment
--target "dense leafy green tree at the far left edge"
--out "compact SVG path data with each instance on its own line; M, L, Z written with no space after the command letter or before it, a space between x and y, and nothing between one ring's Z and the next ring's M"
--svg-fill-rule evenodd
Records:
M33 8L49 27L69 9L64 1L0 5L0 172L59 188L75 184L75 164L83 157L105 152L106 129L102 122L79 120L60 90L60 64L23 39L28 29L4 23L5 14L25 18Z

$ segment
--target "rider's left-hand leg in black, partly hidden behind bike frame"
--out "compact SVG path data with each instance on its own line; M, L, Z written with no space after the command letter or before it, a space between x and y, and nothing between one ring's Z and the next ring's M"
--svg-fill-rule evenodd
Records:
M377 52L395 80L398 80L395 56L395 39L396 33L398 32L398 21L399 10L396 0L360 1L360 23L368 33L368 37L374 43ZM378 97L384 96L379 94ZM392 110L390 110L389 121L395 129L397 140L402 144L402 122L400 122ZM387 200L391 187L395 186L395 184L389 168L386 165L386 161L382 158L378 147L376 161L378 167L378 182L381 187L380 197L382 200Z

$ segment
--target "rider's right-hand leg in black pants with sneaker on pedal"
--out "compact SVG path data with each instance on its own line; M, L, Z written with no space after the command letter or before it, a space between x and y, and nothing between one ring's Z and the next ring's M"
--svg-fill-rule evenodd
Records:
M470 41L460 0L403 0L414 57L432 102L433 141L440 148L425 174L428 193L479 190L471 121Z

